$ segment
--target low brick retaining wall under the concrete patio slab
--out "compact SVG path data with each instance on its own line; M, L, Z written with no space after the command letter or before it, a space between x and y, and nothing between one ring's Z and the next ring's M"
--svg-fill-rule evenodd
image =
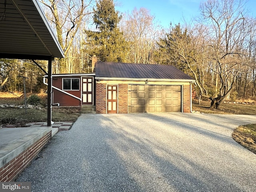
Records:
M21 154L10 160L0 168L0 182L14 181L18 174L33 160L33 158L42 150L45 144L52 138L52 131L40 138L32 146L28 147Z

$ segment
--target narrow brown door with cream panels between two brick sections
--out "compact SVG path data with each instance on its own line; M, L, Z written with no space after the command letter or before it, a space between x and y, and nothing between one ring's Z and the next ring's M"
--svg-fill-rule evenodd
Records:
M108 113L117 113L117 86L108 85Z

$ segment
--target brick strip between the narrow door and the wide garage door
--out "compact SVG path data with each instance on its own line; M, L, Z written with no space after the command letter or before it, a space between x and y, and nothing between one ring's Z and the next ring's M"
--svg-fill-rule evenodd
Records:
M118 84L118 113L128 113L128 84Z

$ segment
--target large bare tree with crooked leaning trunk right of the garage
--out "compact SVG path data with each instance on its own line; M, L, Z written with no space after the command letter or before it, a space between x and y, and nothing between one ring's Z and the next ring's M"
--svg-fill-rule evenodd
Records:
M242 66L249 63L247 36L251 21L246 17L242 0L208 0L201 4L200 10L201 22L208 26L206 59L213 63L211 70L220 80L218 92L210 97L211 107L218 108L234 88Z

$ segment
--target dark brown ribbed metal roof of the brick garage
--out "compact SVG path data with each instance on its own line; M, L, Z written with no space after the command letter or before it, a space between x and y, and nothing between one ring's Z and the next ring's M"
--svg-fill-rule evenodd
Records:
M95 72L96 79L131 78L194 81L189 75L172 65L97 62L95 64Z

